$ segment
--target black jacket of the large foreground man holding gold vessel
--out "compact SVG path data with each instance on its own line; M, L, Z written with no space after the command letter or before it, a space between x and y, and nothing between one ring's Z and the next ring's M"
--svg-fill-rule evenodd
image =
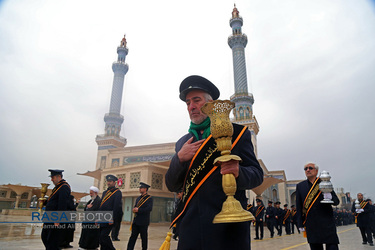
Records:
M235 134L243 126L233 124ZM168 189L176 192L182 188L190 161L180 163L177 153L184 143L193 135L186 134L176 143L176 154L173 156L165 176ZM194 139L196 141L196 139ZM233 142L233 138L232 138ZM263 170L255 157L251 134L246 130L239 139L231 154L241 157L237 181L238 199L246 209L247 198L245 189L259 186L263 182ZM213 224L216 214L221 211L226 195L222 188L222 175L217 168L199 188L185 209L184 215L178 220L178 249L249 249L250 223Z

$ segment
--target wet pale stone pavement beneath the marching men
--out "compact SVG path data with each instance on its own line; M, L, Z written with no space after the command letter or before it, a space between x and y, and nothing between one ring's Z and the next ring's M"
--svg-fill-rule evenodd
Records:
M41 225L42 224L30 224L22 223L29 221L28 216L10 216L0 215L0 250L14 250L14 249L44 249L43 243L40 239ZM20 222L20 223L3 223L3 222ZM80 224L77 224L79 227ZM123 223L120 230L120 240L114 242L117 249L126 249L127 241L130 236L129 224ZM362 250L362 249L374 249L369 245L362 245L361 235L359 229L355 225L341 226L338 227L338 235L340 238L339 248L341 250ZM251 249L267 249L267 250L308 250L310 249L306 243L306 239L303 238L302 234L283 235L280 237L269 237L269 231L267 228L264 230L265 238L263 240L253 240L254 228L251 228L252 242ZM78 249L78 241L80 237L80 229L76 229L74 242L71 243L74 248ZM150 250L157 250L163 243L167 232L168 224L151 224L149 227L149 248ZM284 233L284 232L283 232ZM177 248L177 241L171 241L171 250ZM141 249L141 240L138 239L136 243L136 250ZM231 249L228 249L231 250ZM233 249L235 250L235 249Z

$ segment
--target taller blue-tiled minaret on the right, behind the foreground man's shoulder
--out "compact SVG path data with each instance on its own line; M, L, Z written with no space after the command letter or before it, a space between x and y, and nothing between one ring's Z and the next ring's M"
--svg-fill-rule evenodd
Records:
M257 155L256 136L259 132L259 125L253 115L253 94L247 89L245 47L247 44L247 36L242 33L243 20L239 15L239 11L234 5L232 18L229 21L232 28L232 35L228 38L229 47L232 49L233 55L233 74L234 74L234 95L230 100L236 104L233 109L233 122L247 126L252 135L254 144L254 152Z

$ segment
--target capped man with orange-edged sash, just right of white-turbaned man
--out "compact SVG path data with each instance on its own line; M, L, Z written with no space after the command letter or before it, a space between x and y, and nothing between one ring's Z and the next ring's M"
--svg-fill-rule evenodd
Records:
M103 192L102 201L99 206L99 211L113 211L113 217L120 216L122 212L122 193L116 188L117 177L114 175L107 175L108 189ZM109 233L113 227L113 221L109 223L100 223L100 249L101 250L115 250L112 244Z

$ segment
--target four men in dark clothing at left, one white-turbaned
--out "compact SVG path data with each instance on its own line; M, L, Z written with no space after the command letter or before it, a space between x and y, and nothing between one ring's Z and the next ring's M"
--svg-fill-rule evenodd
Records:
M46 201L45 211L68 211L71 203L71 189L69 184L62 179L64 170L49 169L49 171L51 172L51 181L55 187ZM118 239L118 233L123 216L122 193L116 187L118 180L116 176L107 175L106 180L108 189L103 192L101 199L98 196L99 189L94 186L90 187L91 199L87 202L84 211L111 211L113 212L112 220L101 221L100 223L82 223L82 232L79 240L80 248L96 249L100 245L102 250L115 250L112 240L120 240ZM147 194L149 187L146 183L140 182L139 191L141 195L136 199L133 208L134 219L131 224L132 232L127 245L128 250L134 249L139 234L142 239L142 249L147 249L147 230L153 206L153 199ZM64 248L62 244L66 239L64 236L67 229L63 223L44 223L41 238L45 248L47 250ZM112 240L110 237L111 232Z

